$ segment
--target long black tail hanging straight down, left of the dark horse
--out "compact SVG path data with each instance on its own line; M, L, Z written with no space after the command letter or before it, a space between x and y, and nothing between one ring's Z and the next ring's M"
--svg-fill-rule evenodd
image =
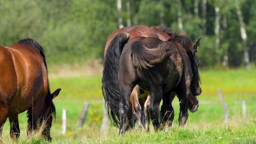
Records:
M121 34L116 36L111 42L106 52L103 76L102 93L105 100L105 108L114 126L119 126L119 101L120 90L118 82L119 59L124 45L128 42L129 36Z

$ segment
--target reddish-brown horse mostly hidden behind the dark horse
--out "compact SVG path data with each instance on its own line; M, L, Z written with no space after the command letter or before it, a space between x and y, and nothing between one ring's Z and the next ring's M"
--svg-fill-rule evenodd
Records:
M119 90L119 84L118 84L118 63L119 58L122 53L124 45L128 42L129 39L134 37L155 37L159 38L162 41L167 41L170 38L174 36L174 33L168 29L168 28L160 28L160 27L146 27L146 26L133 26L133 27L124 27L116 30L113 32L110 37L108 38L108 41L105 45L105 51L104 51L104 69L103 69L103 77L102 77L102 91L103 91L103 97L105 99L105 106L109 111L110 119L112 120L112 123L114 126L119 125L119 101L120 101L120 90ZM181 41L181 43L186 44L185 42ZM129 122L131 122L131 119L133 118L133 115L135 116L135 119L140 119L139 111L141 111L141 106L144 108L144 103L146 101L145 98L141 98L138 100L136 98L137 95L143 95L140 93L136 93L140 90L133 90L130 98L130 103L132 103L133 107L130 109L128 119ZM144 93L144 92L142 92ZM147 95L144 94L146 97ZM164 116L168 117L170 121L173 121L174 117L174 111L173 107L171 105L171 102L173 101L175 97L175 93L170 94L169 98L166 98L166 103L163 104L161 107L161 118L163 119L163 122L167 120L166 118L163 118ZM168 102L167 102L168 100ZM137 101L140 102L137 103ZM189 109L192 112L195 112L198 108L198 100L195 97L191 97L189 99ZM165 115L166 112L171 110L168 114L171 115ZM144 113L142 113L143 115ZM132 124L131 124L131 127Z

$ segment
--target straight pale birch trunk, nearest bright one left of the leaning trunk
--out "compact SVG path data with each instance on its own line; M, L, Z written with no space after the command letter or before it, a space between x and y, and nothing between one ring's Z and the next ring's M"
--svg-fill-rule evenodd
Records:
M219 7L215 7L215 50L218 55L218 62L220 62L220 54L219 54Z

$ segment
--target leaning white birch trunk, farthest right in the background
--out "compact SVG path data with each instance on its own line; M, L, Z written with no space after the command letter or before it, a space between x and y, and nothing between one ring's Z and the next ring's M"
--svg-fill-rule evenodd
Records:
M249 48L247 46L247 33L246 33L246 29L245 29L245 23L243 20L243 15L242 15L241 9L238 4L236 4L236 9L237 9L238 21L240 24L240 33L241 33L241 37L243 40L243 46L244 46L244 62L246 64L247 69L250 69L251 64L250 64Z

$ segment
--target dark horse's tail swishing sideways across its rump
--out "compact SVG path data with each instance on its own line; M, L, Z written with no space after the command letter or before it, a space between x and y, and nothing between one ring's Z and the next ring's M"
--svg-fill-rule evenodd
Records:
M161 42L156 48L146 48L139 41L131 45L131 61L134 67L148 69L161 63L173 50L171 42Z

